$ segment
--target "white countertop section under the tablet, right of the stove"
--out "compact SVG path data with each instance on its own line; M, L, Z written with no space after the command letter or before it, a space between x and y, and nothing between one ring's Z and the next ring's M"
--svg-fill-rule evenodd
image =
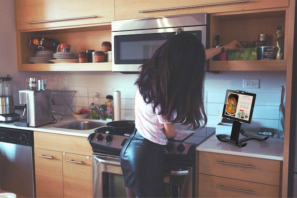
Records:
M246 131L246 133L256 135L256 132L252 131ZM239 138L244 138L244 136L240 134ZM197 150L283 161L283 139L269 137L265 141L248 140L246 143L247 146L239 148L228 143L220 142L216 135L213 134L200 145L198 145Z

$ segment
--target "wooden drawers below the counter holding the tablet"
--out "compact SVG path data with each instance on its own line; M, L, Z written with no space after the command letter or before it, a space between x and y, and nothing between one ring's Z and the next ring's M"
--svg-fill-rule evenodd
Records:
M198 152L198 197L280 197L282 162L215 152Z

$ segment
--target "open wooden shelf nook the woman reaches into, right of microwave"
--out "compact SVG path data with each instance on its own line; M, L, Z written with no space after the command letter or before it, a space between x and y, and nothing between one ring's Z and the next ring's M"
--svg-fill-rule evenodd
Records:
M258 34L268 34L268 46L276 45L277 26L285 27L287 8L215 13L210 15L210 47L220 36L223 45L237 40L247 41L249 47ZM286 39L286 38L285 38ZM210 71L286 71L286 40L283 60L209 60Z

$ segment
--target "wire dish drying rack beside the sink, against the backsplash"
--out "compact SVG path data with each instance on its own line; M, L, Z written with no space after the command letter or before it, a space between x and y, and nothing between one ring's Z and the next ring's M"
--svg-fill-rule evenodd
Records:
M75 95L76 91L58 91L51 90L51 113L53 115L65 115L68 108L74 113L74 110L71 108L70 103Z

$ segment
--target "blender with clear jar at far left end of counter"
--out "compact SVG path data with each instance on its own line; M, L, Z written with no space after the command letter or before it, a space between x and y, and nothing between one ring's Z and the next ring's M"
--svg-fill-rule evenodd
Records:
M20 114L14 112L10 75L0 77L0 122L9 123L20 120Z

